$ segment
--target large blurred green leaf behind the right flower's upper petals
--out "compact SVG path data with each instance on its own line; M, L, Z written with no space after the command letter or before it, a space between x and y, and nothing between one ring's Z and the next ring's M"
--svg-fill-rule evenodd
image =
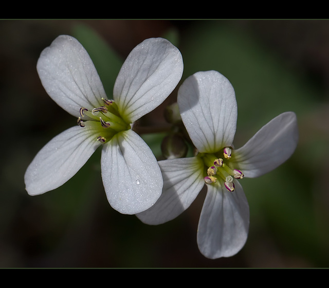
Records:
M227 21L197 21L182 34L184 75L216 70L232 83L238 128L256 127L284 111L303 113L316 106L321 91L283 57L247 29Z

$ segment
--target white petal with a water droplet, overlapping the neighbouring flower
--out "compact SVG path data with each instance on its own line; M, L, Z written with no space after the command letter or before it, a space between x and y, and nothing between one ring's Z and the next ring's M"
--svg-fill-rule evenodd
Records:
M109 204L122 214L150 208L160 197L162 176L150 147L132 130L104 145L102 179Z

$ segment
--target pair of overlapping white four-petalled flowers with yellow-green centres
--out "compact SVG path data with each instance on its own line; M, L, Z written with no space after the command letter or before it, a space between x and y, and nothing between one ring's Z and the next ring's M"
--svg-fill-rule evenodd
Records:
M200 252L211 259L239 252L249 229L249 206L239 181L261 176L292 155L298 142L296 115L280 114L234 149L234 89L217 71L197 72L179 87L177 102L198 153L157 161L132 127L175 89L183 67L169 41L147 39L125 60L108 99L82 45L71 36L57 37L41 53L37 70L49 96L77 117L78 125L35 156L25 174L28 194L63 185L102 146L102 180L114 209L161 224L184 212L206 185L197 230Z

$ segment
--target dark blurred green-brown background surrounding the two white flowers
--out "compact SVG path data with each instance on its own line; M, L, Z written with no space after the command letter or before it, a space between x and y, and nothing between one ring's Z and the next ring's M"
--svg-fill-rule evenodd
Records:
M100 150L60 188L27 195L24 173L33 157L76 123L48 97L35 68L60 34L85 46L109 98L127 54L144 39L167 37L184 59L180 83L212 69L232 83L236 148L278 114L297 113L294 155L267 175L242 180L250 230L240 253L216 260L199 253L205 191L185 213L159 226L116 212L102 186ZM0 267L329 266L328 21L3 20L0 35ZM165 125L161 113L176 95L177 89L141 124ZM148 141L161 159L158 139Z

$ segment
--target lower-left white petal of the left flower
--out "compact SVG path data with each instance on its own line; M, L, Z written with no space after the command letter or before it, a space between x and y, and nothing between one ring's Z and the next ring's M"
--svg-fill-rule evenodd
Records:
M84 128L71 127L50 140L25 172L28 194L43 194L73 177L100 145L94 132L86 124Z

